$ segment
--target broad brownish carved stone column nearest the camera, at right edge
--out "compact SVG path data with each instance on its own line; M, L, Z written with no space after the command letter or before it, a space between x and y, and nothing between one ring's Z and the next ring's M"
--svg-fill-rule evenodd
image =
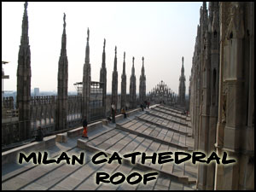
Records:
M220 3L220 109L217 151L236 163L216 167L215 189L254 189L253 113L248 110L254 62L254 3ZM253 16L252 16L253 15ZM251 103L249 103L251 102Z

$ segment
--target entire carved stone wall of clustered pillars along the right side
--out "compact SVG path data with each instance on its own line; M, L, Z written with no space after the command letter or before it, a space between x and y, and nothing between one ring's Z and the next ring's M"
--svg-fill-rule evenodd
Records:
M198 189L254 189L254 3L203 3L191 69L195 150L228 152L199 166Z

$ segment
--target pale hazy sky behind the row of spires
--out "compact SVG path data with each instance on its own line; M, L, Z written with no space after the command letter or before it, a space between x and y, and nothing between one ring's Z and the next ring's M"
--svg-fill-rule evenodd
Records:
M90 29L91 80L99 81L103 39L106 38L107 91L111 92L114 46L117 46L120 92L125 51L127 93L129 93L132 56L135 57L137 93L143 65L147 93L163 80L177 93L184 56L186 94L195 48L195 36L202 3L171 2L29 2L28 35L31 49L31 88L57 90L58 62L61 54L63 13L66 13L68 91L83 79L87 27ZM24 3L2 3L2 61L4 90L16 90Z

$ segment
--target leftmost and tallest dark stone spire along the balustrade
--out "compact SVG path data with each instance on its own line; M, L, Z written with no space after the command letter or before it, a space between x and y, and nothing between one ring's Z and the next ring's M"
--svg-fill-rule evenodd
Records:
M28 38L27 2L24 4L22 34L17 68L17 108L19 109L20 140L31 137L31 53Z

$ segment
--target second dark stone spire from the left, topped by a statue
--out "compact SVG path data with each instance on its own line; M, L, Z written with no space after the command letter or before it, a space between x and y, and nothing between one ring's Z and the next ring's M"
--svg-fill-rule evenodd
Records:
M66 15L64 14L63 33L61 40L61 56L58 69L58 96L56 106L55 130L67 129L67 79L68 79L68 61L67 61L67 37L66 37Z

